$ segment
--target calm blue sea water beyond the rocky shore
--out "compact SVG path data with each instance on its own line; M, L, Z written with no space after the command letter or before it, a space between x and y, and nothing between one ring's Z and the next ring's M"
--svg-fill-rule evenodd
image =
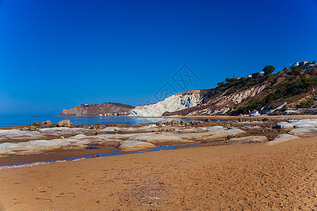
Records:
M61 120L70 120L74 125L77 124L139 124L145 122L166 122L171 120L184 120L191 121L197 120L189 117L175 117L175 118L164 118L164 117L149 117L149 118L139 118L139 117L54 117L54 116L0 116L0 127L11 127L20 125L30 125L33 122L44 122L50 120L53 124L58 123Z

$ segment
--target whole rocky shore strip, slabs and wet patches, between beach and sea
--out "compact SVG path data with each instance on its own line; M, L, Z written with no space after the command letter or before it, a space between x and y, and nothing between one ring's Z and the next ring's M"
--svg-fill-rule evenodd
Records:
M217 116L218 120L223 116ZM3 146L0 146L0 150L2 147L2 151L6 151L6 148L16 148L13 151L7 151L7 153L3 156L0 156L0 165L16 165L23 164L27 162L42 162L42 161L50 161L50 160L63 160L63 159L75 159L75 158L92 158L92 156L108 156L108 153L113 153L113 155L117 155L118 153L128 153L128 152L147 152L151 150L151 148L157 148L160 146L172 146L172 145L180 145L180 144L189 144L196 143L201 146L218 146L218 145L228 145L235 143L261 143L266 141L272 141L279 134L285 134L290 129L276 129L275 124L277 122L281 122L281 116L274 116L275 118L263 116L259 117L235 117L228 120L228 116L225 116L225 120L221 122L206 122L204 121L206 117L192 117L195 120L192 124L183 123L182 126L180 122L175 121L173 123L169 122L168 124L162 126L156 126L155 123L147 123L147 124L137 124L137 125L128 125L128 124L118 124L117 127L107 127L106 125L99 125L94 127L93 125L85 126L82 128L79 127L67 128L67 127L54 127L50 129L39 129L38 132L29 131L28 127L25 127L22 130L19 130L20 127L9 127L2 133L2 137L0 136L0 143L5 143ZM291 116L290 119L294 120ZM299 116L298 119L316 119L316 116L313 115L304 115ZM189 118L192 119L192 118ZM170 117L170 120L177 119L177 117ZM240 120L241 119L241 120ZM268 120L264 120L268 119ZM202 120L202 121L199 121ZM215 118L213 120L216 120ZM284 120L284 119L283 119ZM290 122L292 122L292 120ZM294 122L294 121L293 121ZM168 123L168 122L167 122ZM172 124L173 123L173 124ZM178 126L176 126L176 124ZM185 125L186 124L186 125ZM187 125L188 124L188 125ZM174 125L174 126L173 126ZM216 131L213 131L213 127L216 127ZM14 132L10 134L13 129ZM235 134L235 129L231 134L222 135L221 133L225 133L222 129L237 129L238 133ZM275 129L273 129L275 128ZM18 129L18 130L17 130ZM201 133L205 130L206 134ZM208 130L211 129L210 132ZM75 130L75 131L74 131ZM41 131L41 132L39 132ZM240 131L240 132L239 132ZM46 133L47 132L47 133ZM189 135L187 133L193 133ZM198 132L198 133L197 133ZM215 138L207 137L208 134L213 134L214 132L218 132L219 135L216 135ZM309 132L309 131L308 131ZM15 133L15 134L14 134ZM6 135L8 134L8 138ZM85 134L85 135L83 135ZM1 134L0 134L1 135ZM78 143L76 145L75 137L79 137ZM158 136L159 135L159 136ZM189 136L188 136L189 135ZM14 138L16 137L16 138ZM24 137L22 139L22 137ZM142 138L144 137L144 138ZM170 138L169 138L170 137ZM206 138L207 137L207 138ZM230 141L231 139L237 137L236 141ZM245 137L245 141L240 141ZM249 138L248 138L249 137ZM304 137L302 135L302 137ZM139 140L139 139L143 140ZM82 143L80 140L85 141ZM121 142L118 142L118 139ZM87 144L88 140L99 140L104 141L115 141L116 143L125 143L125 140L135 140L141 141L137 142L138 144L143 144L144 142L149 142L149 146L144 146L139 148L120 149L118 146L102 146L97 145L93 147L93 150L89 150ZM39 140L50 140L49 142L55 141L58 145L61 145L60 148L54 147L54 143L52 143L52 148L49 146L40 146L36 145L32 141ZM120 141L119 140L119 141ZM175 140L175 141L173 141ZM30 141L30 147L26 148L27 144ZM88 142L87 142L88 141ZM142 142L144 141L144 142ZM48 142L48 144L49 144ZM92 141L93 143L94 141ZM20 147L16 143L21 143ZM26 145L25 145L25 144ZM151 143L154 143L151 144ZM11 145L10 145L11 144ZM35 144L35 145L34 145ZM63 147L64 145L64 147ZM32 149L32 146L35 148L43 148L43 150ZM120 146L120 144L119 144ZM21 148L22 147L22 148ZM46 147L46 149L45 149ZM130 146L129 146L130 147ZM185 146L186 147L186 146ZM168 150L169 148L162 148L162 150ZM25 153L19 153L19 151L25 151ZM36 151L36 152L35 152Z

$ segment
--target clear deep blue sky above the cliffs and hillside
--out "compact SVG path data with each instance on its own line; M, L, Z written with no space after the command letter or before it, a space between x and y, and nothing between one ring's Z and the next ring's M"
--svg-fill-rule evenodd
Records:
M317 60L316 11L316 0L0 0L0 115L137 106L183 64L199 77L189 89L209 89Z

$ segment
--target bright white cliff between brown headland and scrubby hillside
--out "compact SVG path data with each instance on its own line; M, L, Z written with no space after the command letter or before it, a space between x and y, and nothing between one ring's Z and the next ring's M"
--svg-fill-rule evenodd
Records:
M198 105L205 92L204 90L193 90L174 94L155 104L137 106L129 115L137 117L159 117L166 112L192 108Z

